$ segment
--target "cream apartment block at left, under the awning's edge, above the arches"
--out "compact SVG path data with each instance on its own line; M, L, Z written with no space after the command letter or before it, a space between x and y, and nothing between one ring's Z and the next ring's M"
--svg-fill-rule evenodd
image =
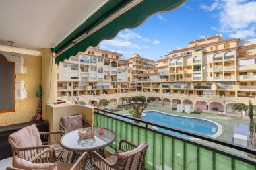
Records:
M117 52L90 47L57 65L57 96L127 92L130 63Z

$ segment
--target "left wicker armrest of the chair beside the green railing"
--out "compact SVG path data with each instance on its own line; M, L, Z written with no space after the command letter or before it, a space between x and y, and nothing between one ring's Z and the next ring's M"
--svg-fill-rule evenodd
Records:
M110 167L114 168L115 164L108 163L104 157L102 157L100 154L98 154L96 151L92 151L90 153L91 156L91 163L95 167L98 167L98 169L101 169L102 167Z

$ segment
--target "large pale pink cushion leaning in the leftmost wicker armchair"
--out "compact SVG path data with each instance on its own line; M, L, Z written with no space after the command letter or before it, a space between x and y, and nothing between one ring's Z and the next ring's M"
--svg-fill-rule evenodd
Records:
M11 140L19 147L33 147L41 146L42 141L40 139L40 134L35 124L22 128L17 132L14 132L9 136ZM28 140L29 139L29 140Z

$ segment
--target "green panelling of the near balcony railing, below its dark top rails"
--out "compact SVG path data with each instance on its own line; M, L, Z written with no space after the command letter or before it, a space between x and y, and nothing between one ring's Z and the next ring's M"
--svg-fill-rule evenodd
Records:
M102 114L95 114L94 124L115 132L115 142L110 145L113 148L117 149L122 139L137 145L143 141L148 142L146 169L256 170L253 163L247 163L243 158L224 155L218 150L209 150L196 142L191 143L185 139L141 128Z

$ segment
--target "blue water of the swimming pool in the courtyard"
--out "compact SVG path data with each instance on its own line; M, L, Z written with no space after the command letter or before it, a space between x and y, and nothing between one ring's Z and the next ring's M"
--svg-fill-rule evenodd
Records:
M212 136L218 132L218 126L213 122L202 120L199 118L189 118L189 117L181 117L174 116L170 114L163 114L157 111L146 111L146 116L142 116L142 120L148 120L150 122L154 122L156 124L162 124L165 126L169 126L171 128L178 128L181 130L187 130L189 132L194 132L197 134L202 134L205 136ZM131 122L131 120L127 118L122 118L117 116L118 118L125 120L127 122ZM163 128L158 128L158 130L162 132L167 132L170 134L177 134L178 136L189 137L185 134L180 134L177 132L172 132L170 130L166 130Z

